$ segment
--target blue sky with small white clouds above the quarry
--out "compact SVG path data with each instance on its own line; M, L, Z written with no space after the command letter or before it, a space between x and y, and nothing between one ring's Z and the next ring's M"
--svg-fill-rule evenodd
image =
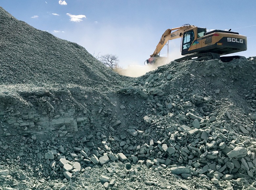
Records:
M122 67L143 65L163 32L183 24L231 28L247 36L247 51L236 55L256 56L255 0L1 0L0 6L91 54L116 54ZM180 43L181 39L170 41L172 60L181 57ZM161 54L166 53L164 47Z

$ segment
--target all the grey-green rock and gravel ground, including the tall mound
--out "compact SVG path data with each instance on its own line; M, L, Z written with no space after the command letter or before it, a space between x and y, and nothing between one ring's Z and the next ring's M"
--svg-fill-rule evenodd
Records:
M120 76L0 7L0 189L256 190L256 59Z

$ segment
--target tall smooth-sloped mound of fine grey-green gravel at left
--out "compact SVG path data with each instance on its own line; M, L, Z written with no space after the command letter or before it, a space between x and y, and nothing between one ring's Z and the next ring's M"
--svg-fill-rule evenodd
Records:
M19 21L0 7L0 84L115 86L120 76L84 47Z

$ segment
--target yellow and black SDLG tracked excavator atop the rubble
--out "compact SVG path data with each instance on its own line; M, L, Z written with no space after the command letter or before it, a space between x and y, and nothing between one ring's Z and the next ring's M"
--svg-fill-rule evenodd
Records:
M230 29L231 30L231 29ZM186 55L175 61L184 61L197 57L195 60L220 59L223 62L229 62L242 56L225 56L230 53L245 51L247 49L246 36L239 35L238 32L225 30L213 30L206 32L206 28L199 28L194 25L185 24L178 28L167 29L158 43L156 50L150 58L146 60L147 64L154 64L158 60L166 60L166 57L160 57L160 50L169 41L176 38L181 39L181 55Z

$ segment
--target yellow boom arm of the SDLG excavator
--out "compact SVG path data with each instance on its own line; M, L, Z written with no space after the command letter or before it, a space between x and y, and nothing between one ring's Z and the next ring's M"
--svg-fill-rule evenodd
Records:
M157 54L161 51L161 49L164 47L164 45L168 42L168 40L173 40L176 38L181 38L182 34L185 30L188 30L190 28L195 28L196 26L193 25L183 25L181 27L178 28L171 28L171 29L167 29L161 39L160 42L158 43L154 53L152 55L150 55L150 57L155 57L157 56ZM174 31L175 30L175 31Z

